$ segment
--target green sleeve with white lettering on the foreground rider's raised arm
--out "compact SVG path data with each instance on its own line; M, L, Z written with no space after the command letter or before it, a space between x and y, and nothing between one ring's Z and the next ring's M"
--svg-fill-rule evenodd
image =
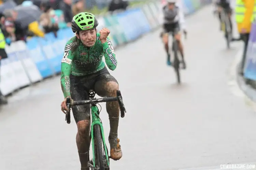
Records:
M115 70L117 66L116 55L109 37L107 38L106 42L102 44L102 47L106 65L110 70Z

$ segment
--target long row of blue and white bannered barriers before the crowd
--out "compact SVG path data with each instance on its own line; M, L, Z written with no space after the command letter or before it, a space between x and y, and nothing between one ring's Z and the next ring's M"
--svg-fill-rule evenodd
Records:
M211 0L182 0L185 14L195 12ZM110 39L117 47L136 40L141 35L160 27L161 2L151 2L125 12L99 17L98 30L111 30ZM48 33L44 38L33 37L25 43L17 41L6 46L8 58L1 60L0 89L3 95L47 77L60 73L66 42L74 36L70 28L61 29L57 38Z

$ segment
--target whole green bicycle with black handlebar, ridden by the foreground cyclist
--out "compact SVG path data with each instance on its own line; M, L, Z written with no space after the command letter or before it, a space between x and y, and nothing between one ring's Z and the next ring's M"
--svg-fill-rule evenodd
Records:
M116 91L117 97L104 97L104 98L95 98L95 91L89 90L90 100L81 100L73 101L70 98L67 98L67 107L69 111L66 113L66 121L70 124L70 107L76 105L91 104L91 128L90 128L90 140L92 141L93 147L93 159L88 159L88 167L91 170L109 170L110 169L110 156L108 148L106 147L104 131L101 119L99 117L100 111L97 107L97 104L101 102L112 102L118 101L120 106L121 117L125 117L126 109L124 106L123 98L120 90ZM96 142L95 142L96 141ZM103 145L103 148L102 148Z

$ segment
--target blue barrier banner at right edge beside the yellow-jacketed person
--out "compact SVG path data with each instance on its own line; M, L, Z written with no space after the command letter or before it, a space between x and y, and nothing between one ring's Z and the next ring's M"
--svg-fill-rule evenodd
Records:
M247 46L244 77L256 81L256 21L252 24Z

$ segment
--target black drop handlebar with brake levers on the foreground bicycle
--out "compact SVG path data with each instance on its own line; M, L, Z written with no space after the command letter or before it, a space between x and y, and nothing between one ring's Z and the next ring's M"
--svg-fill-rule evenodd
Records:
M92 103L102 103L102 102L112 102L112 101L118 101L121 117L123 118L123 117L125 117L126 109L125 109L125 105L124 105L120 90L116 91L116 96L117 97L104 97L104 98L99 98L99 99L94 98L94 99L90 99L90 100L80 100L80 101L73 101L72 99L67 98L66 104L67 104L69 111L66 113L65 120L67 121L68 124L70 123L70 107L71 106L92 104Z

